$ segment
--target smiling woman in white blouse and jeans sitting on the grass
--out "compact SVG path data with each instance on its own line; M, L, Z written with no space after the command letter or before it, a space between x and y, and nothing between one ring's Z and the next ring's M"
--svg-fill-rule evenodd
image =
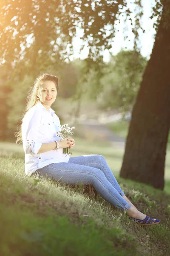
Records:
M17 142L23 141L26 153L26 175L38 173L61 183L91 184L102 198L125 210L137 224L158 224L159 220L139 212L127 199L102 155L70 157L62 154L62 149L73 148L75 141L71 137L66 140L57 137L61 125L51 104L56 100L58 90L58 78L45 73L35 80L28 95L23 122L17 133Z

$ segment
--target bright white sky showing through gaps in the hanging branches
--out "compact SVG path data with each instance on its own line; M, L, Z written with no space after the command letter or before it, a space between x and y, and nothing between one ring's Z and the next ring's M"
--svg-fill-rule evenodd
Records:
M130 3L134 2L134 0L127 1L128 6L131 10L134 9L134 4ZM143 5L143 12L144 16L142 18L142 28L145 29L144 34L141 33L139 40L140 40L140 47L141 47L141 54L149 59L150 54L152 52L153 44L154 44L154 35L156 33L155 29L153 29L154 20L151 20L149 17L151 16L152 7L155 3L155 0L142 0ZM134 17L134 16L133 16ZM133 18L132 17L132 18ZM126 27L128 38L124 39L123 28ZM133 33L130 32L130 24L125 24L123 18L121 18L121 22L116 25L116 29L119 29L119 32L116 32L114 42L112 44L111 52L113 55L118 53L121 49L133 49ZM81 58L84 59L88 55L88 47L86 46L81 54L79 54L79 48L81 46L81 40L79 39L81 36L81 30L77 29L77 37L73 40L73 47L74 47L74 55L70 58L73 60L74 58ZM130 41L129 41L130 40ZM127 48L125 48L127 47ZM103 52L103 60L105 62L109 61L110 54L108 50Z

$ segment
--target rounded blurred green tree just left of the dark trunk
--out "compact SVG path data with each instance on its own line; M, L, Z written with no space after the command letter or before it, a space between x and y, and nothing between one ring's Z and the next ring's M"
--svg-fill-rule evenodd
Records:
M121 51L113 56L101 78L103 91L99 105L107 109L127 111L132 108L138 93L147 61L139 52Z

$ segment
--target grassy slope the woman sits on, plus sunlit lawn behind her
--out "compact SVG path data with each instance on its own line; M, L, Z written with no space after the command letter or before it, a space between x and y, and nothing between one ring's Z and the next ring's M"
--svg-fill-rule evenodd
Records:
M102 154L110 160L111 169L117 163L116 171L112 170L118 175L121 150L75 140L79 152L73 149L73 156ZM140 211L161 219L159 225L139 227L100 195L95 200L91 187L27 177L22 146L0 143L0 153L0 255L170 255L166 192L118 177Z

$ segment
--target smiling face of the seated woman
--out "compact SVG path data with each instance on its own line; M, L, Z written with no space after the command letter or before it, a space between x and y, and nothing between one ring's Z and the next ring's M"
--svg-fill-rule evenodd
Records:
M57 97L57 88L53 81L45 81L42 84L42 88L39 90L39 96L41 103L49 108Z

